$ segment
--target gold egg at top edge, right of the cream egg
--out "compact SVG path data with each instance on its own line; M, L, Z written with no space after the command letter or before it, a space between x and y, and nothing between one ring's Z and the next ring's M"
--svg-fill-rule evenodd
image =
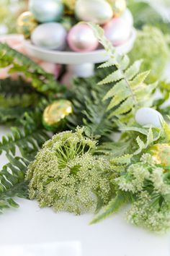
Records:
M127 7L125 0L107 0L111 4L114 16L120 17Z

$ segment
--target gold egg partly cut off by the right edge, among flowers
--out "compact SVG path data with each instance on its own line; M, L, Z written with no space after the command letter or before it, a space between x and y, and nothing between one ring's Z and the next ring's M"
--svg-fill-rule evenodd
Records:
M151 153L156 164L170 169L170 144L153 145L148 152Z

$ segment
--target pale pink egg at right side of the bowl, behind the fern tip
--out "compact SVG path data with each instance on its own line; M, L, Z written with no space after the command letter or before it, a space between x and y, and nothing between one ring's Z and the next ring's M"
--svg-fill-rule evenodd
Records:
M121 17L114 18L104 25L104 35L113 46L120 46L130 38L131 27Z

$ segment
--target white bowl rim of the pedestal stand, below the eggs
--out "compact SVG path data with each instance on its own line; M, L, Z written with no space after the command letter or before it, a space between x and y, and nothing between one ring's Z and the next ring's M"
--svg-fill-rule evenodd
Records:
M129 40L122 46L116 47L119 54L127 54L133 48L135 35L135 29L133 28ZM53 62L57 64L96 64L106 61L108 59L106 51L104 49L90 51L87 53L77 53L73 51L50 51L44 48L34 46L30 40L24 40L24 46L30 56L33 56L37 59L42 59L43 61Z

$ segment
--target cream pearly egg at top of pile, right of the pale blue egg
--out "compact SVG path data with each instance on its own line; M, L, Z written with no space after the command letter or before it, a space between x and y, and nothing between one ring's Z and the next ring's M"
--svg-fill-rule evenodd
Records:
M75 12L79 20L100 25L113 17L112 7L105 0L77 0Z

